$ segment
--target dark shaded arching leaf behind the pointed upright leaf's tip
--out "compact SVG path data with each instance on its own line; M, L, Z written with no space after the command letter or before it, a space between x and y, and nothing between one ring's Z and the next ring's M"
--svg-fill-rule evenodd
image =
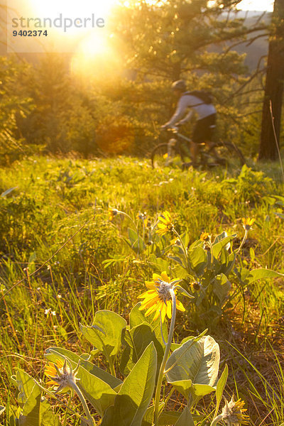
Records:
M158 339L155 337L155 333L150 324L143 322L143 324L132 327L130 330L126 329L124 336L126 342L126 348L121 356L121 373L126 376L133 366L136 364L138 359L145 351L146 347L153 342L157 351L158 357L158 368L163 359L163 346L160 344Z

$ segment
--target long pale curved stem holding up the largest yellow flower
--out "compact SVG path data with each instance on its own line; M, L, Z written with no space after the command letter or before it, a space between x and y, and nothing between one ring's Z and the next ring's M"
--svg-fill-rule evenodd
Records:
M172 319L170 321L170 331L168 334L168 343L165 346L165 353L163 356L163 361L162 364L160 364L160 371L159 371L159 375L158 375L158 381L157 381L157 387L155 389L155 408L154 408L154 421L153 421L153 425L154 426L158 426L158 417L159 417L159 403L160 403L160 389L162 387L162 381L163 381L163 375L164 375L164 371L165 371L165 364L167 362L168 359L168 354L170 353L170 346L172 344L172 340L173 340L173 331L175 328L175 314L176 314L176 300L175 300L175 292L173 289L170 290L170 295L172 297L172 302L173 302L173 312L172 312Z

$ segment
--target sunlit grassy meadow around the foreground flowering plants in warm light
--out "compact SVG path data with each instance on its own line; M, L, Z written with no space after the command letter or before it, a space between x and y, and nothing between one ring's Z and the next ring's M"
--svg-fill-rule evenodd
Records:
M11 380L16 368L45 381L44 354L50 346L87 359L93 345L82 330L98 310L129 320L153 273L182 275L172 264L179 249L176 235L155 234L163 212L170 212L187 247L204 232L212 241L232 236L226 243L241 247L235 280L219 300L216 292L200 297L202 273L197 273L200 282L180 276L200 302L179 296L186 309L178 312L175 342L208 329L221 349L220 371L229 367L226 398L234 394L245 401L250 425L284 422L284 281L279 275L284 273L284 185L276 165L251 166L153 170L149 160L124 156L31 157L0 169L2 425L21 424L14 420L19 415ZM243 218L255 219L244 241ZM244 271L257 269L278 275L244 278ZM94 364L109 368L104 354L92 356ZM121 378L117 359L111 368ZM163 392L168 395L166 385ZM60 398L68 404L65 395ZM167 403L179 412L185 398L170 393ZM80 424L53 405L60 424ZM195 406L200 416L195 424L209 425L214 408L214 397L204 395Z

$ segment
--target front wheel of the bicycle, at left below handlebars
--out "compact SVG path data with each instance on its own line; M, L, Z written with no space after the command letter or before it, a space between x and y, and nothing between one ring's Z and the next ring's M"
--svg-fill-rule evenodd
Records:
M169 146L168 143L159 143L152 153L151 162L153 168L181 167L182 155L178 146Z

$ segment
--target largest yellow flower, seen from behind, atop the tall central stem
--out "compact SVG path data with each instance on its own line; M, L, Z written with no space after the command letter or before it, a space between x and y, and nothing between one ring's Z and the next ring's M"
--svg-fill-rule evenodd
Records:
M165 321L165 317L172 317L172 293L176 293L175 283L180 280L170 281L167 273L162 272L160 275L153 273L153 281L146 281L146 287L149 289L142 295L138 296L139 299L144 299L141 302L139 310L145 310L147 317L153 314L153 321L157 320L159 315L162 318L162 322ZM177 300L177 309L185 312L185 307L182 303Z

